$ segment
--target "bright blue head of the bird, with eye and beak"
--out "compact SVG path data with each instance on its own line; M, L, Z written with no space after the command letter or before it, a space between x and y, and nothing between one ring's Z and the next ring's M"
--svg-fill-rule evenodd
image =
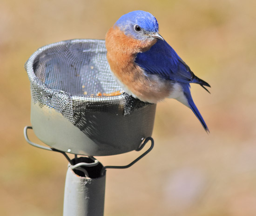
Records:
M117 26L125 35L135 39L145 40L148 38L162 39L158 33L158 22L155 17L145 11L133 11L122 15L116 21Z

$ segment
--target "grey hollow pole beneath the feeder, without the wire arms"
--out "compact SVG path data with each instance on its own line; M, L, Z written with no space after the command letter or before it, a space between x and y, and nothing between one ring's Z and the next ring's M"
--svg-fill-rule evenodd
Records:
M74 164L88 163L88 157L74 158ZM73 161L72 160L72 161ZM67 169L63 216L103 216L106 173L101 174L102 164ZM85 169L86 171L82 171ZM88 174L88 177L86 175ZM101 176L102 175L102 176Z

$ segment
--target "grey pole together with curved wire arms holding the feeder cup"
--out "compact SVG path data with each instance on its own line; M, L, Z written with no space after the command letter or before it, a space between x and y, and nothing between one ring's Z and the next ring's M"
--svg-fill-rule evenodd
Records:
M24 137L29 144L44 150L60 152L69 162L64 191L63 216L103 216L106 169L129 168L154 147L154 139L147 137L136 151L141 151L148 141L151 141L149 149L130 164L103 167L94 157L78 158L75 154L74 159L71 160L64 151L33 143L27 137L27 129L32 129L32 127L26 126L24 128Z

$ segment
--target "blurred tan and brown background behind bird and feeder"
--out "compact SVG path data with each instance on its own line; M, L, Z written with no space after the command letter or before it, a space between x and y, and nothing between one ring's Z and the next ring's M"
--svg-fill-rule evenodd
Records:
M210 134L177 101L157 105L155 148L128 170L108 170L105 215L256 216L255 8L250 0L1 0L0 215L62 215L67 161L23 137L26 60L57 41L104 39L122 14L140 9L212 86L208 94L192 85ZM138 153L98 159L122 165Z

